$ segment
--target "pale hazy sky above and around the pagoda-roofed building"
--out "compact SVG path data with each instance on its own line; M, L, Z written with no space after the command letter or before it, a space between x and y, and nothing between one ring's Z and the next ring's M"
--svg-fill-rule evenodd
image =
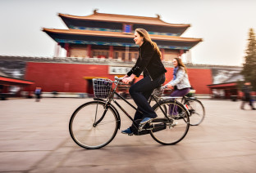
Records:
M0 0L0 55L53 57L56 42L43 28L67 29L58 13L161 16L190 24L181 35L203 38L191 52L194 64L241 66L249 29L256 32L255 0Z

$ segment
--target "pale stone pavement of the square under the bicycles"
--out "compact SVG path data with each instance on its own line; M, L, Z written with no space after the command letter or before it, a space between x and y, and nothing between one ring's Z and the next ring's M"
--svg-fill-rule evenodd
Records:
M71 113L88 100L0 101L0 172L255 172L256 111L240 101L202 100L206 118L176 145L118 131L103 149L88 150L68 131ZM129 124L121 113L121 129Z

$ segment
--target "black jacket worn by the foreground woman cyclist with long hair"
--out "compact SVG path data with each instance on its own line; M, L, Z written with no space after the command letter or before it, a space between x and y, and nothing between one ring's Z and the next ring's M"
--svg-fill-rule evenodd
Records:
M153 50L153 45L147 41L144 41L141 47L139 47L139 58L127 75L130 76L134 73L136 77L139 77L142 72L144 77L149 76L152 80L158 78L163 73L167 73L160 55L158 55L158 51Z

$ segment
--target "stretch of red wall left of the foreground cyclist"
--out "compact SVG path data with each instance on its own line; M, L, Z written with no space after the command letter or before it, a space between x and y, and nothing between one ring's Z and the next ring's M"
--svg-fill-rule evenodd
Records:
M26 91L42 87L43 91L47 92L86 92L87 82L84 77L109 78L107 70L107 65L29 62L25 79L34 81L35 85L26 88Z

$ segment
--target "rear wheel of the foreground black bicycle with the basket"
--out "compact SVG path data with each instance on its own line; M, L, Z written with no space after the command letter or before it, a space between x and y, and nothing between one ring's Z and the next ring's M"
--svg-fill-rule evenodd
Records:
M153 126L161 126L164 125L166 128L162 128L161 131L150 131L150 135L153 137L153 140L156 140L160 144L176 144L184 139L185 135L189 131L190 128L190 115L187 109L185 109L184 105L180 102L174 100L164 100L158 104L153 106L153 110L157 113L158 118L153 120ZM170 107L172 106L172 107ZM173 109L177 108L177 115L173 114ZM168 117L171 117L170 120L164 115L166 112Z

